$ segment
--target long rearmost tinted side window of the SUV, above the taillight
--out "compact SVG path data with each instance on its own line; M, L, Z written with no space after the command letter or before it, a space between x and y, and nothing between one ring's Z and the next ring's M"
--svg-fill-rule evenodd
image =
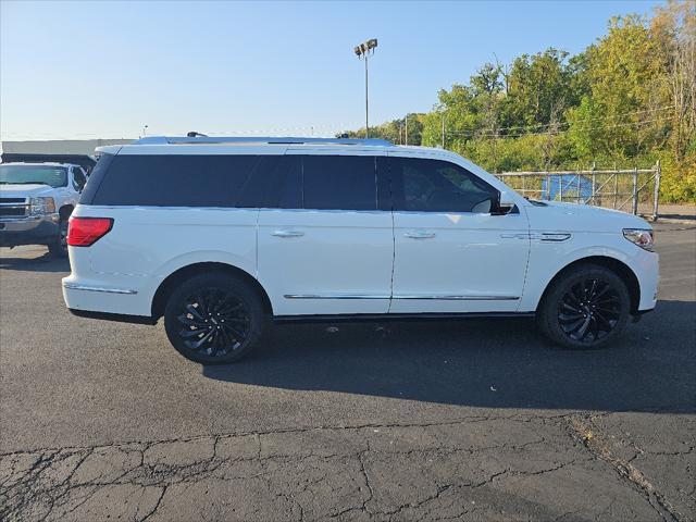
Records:
M99 175L101 183L91 203L257 207L259 201L246 197L245 190L258 189L251 182L258 161L256 156L115 156L107 174Z

